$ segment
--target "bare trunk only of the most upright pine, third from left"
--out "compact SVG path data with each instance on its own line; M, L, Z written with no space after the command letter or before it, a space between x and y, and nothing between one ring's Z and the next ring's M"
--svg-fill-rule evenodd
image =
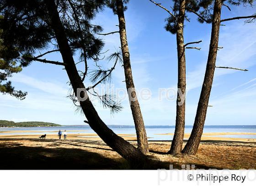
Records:
M186 58L183 38L185 6L186 0L180 0L176 41L178 53L178 89L180 89L182 95L177 92L175 132L171 142L171 150L168 152L172 155L181 153L185 128ZM182 96L184 98L181 98Z

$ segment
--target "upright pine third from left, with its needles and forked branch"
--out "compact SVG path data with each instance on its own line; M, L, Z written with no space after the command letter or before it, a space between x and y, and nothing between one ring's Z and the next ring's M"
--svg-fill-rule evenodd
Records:
M176 100L176 125L174 137L171 142L171 149L169 154L176 155L180 154L182 150L184 129L185 129L185 104L186 104L186 49L198 49L198 47L187 47L191 44L199 42L184 43L184 22L189 21L187 14L197 11L200 9L197 1L195 0L173 0L172 10L166 9L160 3L153 0L149 0L155 5L159 6L163 10L169 13L169 17L165 20L165 30L176 34L176 45L177 45L177 59L178 59L178 83L177 88L177 100ZM209 22L209 21L208 21Z

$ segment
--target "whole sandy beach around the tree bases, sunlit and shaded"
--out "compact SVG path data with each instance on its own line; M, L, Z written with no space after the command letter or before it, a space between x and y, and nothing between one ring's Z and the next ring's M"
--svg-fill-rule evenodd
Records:
M127 161L94 133L69 131L68 140L59 140L57 134L39 139L38 134L21 135L21 131L15 130L8 133L17 134L0 132L0 169L130 169ZM137 146L135 134L118 135ZM167 155L171 141L150 141L149 138L149 156L157 162L149 169L168 169L170 164L179 169L182 164L204 169L256 169L256 139L216 137L218 135L255 133L204 133L195 156ZM189 134L185 134L187 137Z

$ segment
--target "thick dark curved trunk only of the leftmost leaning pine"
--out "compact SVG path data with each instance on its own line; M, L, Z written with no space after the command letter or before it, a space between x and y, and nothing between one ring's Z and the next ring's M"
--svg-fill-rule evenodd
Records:
M45 3L47 5L49 18L51 20L50 26L55 33L63 62L66 64L65 70L69 76L69 80L75 91L75 94L77 94L77 88L85 88L85 85L82 83L81 78L77 72L73 55L69 47L64 27L60 21L55 1L45 0ZM90 99L88 98L87 92L81 92L80 97L87 97L85 101L80 101L81 108L91 128L107 145L109 145L114 151L117 151L117 153L129 161L138 162L145 158L145 156L138 149L128 143L128 141L116 135L111 129L107 127L107 125L104 124L104 122L97 114L96 109L94 108Z

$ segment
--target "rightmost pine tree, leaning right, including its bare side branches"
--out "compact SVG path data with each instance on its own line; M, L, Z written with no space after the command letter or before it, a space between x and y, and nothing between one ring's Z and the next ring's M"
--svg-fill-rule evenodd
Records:
M197 153L200 140L203 134L203 126L206 119L206 113L208 108L208 102L211 94L211 89L213 85L213 77L214 77L214 71L216 63L216 57L217 52L219 49L218 43L219 43L219 28L221 26L221 23L224 21L231 21L231 20L237 20L237 19L249 19L246 22L252 22L256 19L256 15L252 16L243 16L243 17L233 17L229 19L221 20L221 8L222 6L227 7L229 10L228 5L224 4L224 1L222 0L215 0L214 6L212 4L208 4L209 2L207 0L201 1L201 5L204 7L204 14L208 15L208 17L212 20L212 32L211 32L211 41L210 41L210 47L209 47L209 53L208 53L208 60L203 80L203 86L199 98L199 102L197 105L197 113L192 129L192 133L187 141L187 144L185 145L184 149L182 150L185 154L192 154L195 155ZM231 5L252 5L253 0L229 0L229 4ZM213 8L210 8L213 6ZM201 19L201 18L200 18ZM203 19L201 19L203 21Z

